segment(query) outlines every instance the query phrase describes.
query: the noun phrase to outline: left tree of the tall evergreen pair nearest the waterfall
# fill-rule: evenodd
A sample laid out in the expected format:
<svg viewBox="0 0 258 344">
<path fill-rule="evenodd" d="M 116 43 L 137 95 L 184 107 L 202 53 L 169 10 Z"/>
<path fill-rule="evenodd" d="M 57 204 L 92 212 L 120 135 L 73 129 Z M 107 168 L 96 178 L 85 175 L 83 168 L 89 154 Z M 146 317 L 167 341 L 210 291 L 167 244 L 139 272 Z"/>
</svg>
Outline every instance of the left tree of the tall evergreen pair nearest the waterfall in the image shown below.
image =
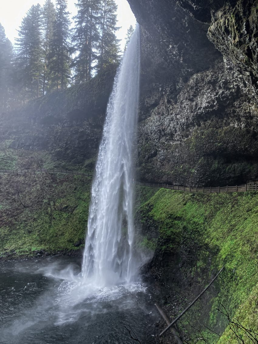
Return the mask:
<svg viewBox="0 0 258 344">
<path fill-rule="evenodd" d="M 92 77 L 93 64 L 99 42 L 98 24 L 100 20 L 101 0 L 78 0 L 73 36 L 75 81 L 85 82 Z"/>
</svg>

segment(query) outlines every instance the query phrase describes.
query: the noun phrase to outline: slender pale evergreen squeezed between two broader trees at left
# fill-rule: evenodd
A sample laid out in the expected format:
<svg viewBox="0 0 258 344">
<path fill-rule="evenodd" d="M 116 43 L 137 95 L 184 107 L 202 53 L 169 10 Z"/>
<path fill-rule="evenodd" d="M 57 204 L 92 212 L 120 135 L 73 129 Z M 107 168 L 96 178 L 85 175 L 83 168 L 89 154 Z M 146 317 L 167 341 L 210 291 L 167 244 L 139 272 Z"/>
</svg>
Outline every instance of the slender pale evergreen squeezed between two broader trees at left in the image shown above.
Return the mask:
<svg viewBox="0 0 258 344">
<path fill-rule="evenodd" d="M 46 0 L 43 6 L 43 50 L 44 50 L 44 72 L 43 72 L 43 90 L 42 94 L 51 87 L 51 71 L 50 56 L 51 56 L 51 42 L 54 36 L 54 25 L 55 25 L 55 6 L 51 0 Z"/>
</svg>

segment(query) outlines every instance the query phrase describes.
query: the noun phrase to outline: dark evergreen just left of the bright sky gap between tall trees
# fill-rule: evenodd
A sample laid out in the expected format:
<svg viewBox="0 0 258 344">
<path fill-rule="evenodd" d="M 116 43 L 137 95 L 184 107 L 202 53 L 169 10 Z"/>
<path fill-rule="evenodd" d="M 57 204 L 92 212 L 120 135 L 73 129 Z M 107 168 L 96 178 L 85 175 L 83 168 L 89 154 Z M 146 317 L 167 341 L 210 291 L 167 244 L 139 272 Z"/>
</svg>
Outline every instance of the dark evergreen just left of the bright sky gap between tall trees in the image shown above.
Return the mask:
<svg viewBox="0 0 258 344">
<path fill-rule="evenodd" d="M 70 32 L 69 12 L 67 0 L 56 0 L 56 20 L 53 38 L 50 42 L 49 63 L 47 68 L 51 72 L 52 84 L 57 89 L 64 89 L 70 80 Z"/>
</svg>

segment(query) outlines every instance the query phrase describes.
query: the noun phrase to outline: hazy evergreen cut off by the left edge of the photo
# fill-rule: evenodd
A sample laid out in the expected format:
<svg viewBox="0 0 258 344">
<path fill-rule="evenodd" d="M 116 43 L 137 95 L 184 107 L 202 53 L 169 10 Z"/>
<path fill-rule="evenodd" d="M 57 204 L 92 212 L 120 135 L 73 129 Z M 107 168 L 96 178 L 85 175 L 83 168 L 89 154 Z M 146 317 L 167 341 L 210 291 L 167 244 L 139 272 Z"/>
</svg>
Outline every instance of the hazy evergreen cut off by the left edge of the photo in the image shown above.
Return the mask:
<svg viewBox="0 0 258 344">
<path fill-rule="evenodd" d="M 7 39 L 0 23 L 0 111 L 6 110 L 11 97 L 12 76 L 12 44 Z"/>
</svg>

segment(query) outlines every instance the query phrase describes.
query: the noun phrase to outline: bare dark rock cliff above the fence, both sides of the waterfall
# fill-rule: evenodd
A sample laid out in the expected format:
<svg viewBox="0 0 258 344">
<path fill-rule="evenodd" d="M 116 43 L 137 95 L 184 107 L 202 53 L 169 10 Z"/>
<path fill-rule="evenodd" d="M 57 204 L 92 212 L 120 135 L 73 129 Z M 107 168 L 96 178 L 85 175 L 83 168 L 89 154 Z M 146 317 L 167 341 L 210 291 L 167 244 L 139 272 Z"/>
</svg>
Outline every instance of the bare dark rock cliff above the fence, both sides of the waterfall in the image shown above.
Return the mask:
<svg viewBox="0 0 258 344">
<path fill-rule="evenodd" d="M 128 1 L 141 25 L 137 178 L 255 182 L 257 1 Z M 4 116 L 1 141 L 84 164 L 96 156 L 114 76 L 115 66 Z"/>
</svg>

